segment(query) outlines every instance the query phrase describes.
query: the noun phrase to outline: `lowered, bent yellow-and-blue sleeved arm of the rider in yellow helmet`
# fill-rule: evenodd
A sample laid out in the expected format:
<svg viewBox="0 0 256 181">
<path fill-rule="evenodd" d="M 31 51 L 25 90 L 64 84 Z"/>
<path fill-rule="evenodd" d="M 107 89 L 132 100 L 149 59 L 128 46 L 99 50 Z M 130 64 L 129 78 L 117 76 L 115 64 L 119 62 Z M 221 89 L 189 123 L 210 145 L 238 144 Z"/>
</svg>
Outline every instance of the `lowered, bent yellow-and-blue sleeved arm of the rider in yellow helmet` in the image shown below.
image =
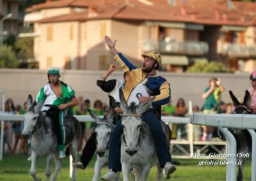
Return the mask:
<svg viewBox="0 0 256 181">
<path fill-rule="evenodd" d="M 163 84 L 160 87 L 160 94 L 155 96 L 153 105 L 154 106 L 161 106 L 165 105 L 170 101 L 171 98 L 171 90 L 170 90 L 170 84 L 168 82 L 163 82 Z"/>
</svg>

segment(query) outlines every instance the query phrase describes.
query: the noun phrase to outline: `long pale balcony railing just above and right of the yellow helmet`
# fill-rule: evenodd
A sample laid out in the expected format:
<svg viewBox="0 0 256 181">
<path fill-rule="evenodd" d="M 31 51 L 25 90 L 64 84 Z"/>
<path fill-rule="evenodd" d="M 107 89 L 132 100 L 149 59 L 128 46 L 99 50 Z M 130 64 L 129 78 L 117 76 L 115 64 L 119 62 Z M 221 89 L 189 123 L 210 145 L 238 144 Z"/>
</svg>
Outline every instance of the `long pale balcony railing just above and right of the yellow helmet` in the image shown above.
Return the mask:
<svg viewBox="0 0 256 181">
<path fill-rule="evenodd" d="M 209 45 L 203 41 L 143 41 L 143 51 L 158 50 L 163 53 L 175 53 L 185 55 L 204 55 L 209 51 Z"/>
</svg>

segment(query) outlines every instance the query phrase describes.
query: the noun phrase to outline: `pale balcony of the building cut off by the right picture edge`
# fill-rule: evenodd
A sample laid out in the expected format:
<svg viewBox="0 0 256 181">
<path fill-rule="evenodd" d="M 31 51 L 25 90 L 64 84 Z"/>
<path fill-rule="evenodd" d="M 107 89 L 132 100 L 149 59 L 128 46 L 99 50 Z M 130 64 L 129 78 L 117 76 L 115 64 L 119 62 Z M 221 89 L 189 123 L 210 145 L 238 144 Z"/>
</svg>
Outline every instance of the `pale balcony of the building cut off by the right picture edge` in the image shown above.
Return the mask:
<svg viewBox="0 0 256 181">
<path fill-rule="evenodd" d="M 256 46 L 225 43 L 221 45 L 221 55 L 228 57 L 256 57 Z"/>
</svg>

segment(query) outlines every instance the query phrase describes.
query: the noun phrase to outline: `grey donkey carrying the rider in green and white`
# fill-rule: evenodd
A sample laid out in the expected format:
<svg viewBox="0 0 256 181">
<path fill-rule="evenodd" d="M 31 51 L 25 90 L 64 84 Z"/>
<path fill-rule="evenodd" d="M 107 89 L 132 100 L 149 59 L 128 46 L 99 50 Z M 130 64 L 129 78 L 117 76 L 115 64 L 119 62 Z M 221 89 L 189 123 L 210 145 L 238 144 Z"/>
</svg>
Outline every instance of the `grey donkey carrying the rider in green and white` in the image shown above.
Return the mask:
<svg viewBox="0 0 256 181">
<path fill-rule="evenodd" d="M 54 157 L 56 168 L 52 180 L 56 180 L 56 177 L 61 168 L 61 159 L 58 157 L 57 138 L 56 134 L 52 130 L 52 120 L 49 117 L 45 117 L 45 112 L 40 112 L 44 105 L 45 99 L 37 105 L 33 103 L 33 98 L 29 94 L 28 96 L 28 112 L 24 114 L 24 129 L 22 131 L 22 138 L 28 140 L 31 138 L 31 168 L 30 174 L 35 181 L 41 180 L 36 176 L 36 160 L 38 156 L 47 157 L 47 165 L 45 169 L 45 175 L 47 180 L 50 180 L 51 175 L 51 161 Z M 53 120 L 56 121 L 56 120 Z M 78 120 L 70 115 L 66 115 L 64 118 L 65 125 L 65 146 L 70 146 L 70 154 L 73 157 L 73 161 L 77 159 L 77 144 L 79 135 L 81 134 L 81 127 Z M 76 173 L 73 169 L 71 180 L 76 180 Z"/>
</svg>

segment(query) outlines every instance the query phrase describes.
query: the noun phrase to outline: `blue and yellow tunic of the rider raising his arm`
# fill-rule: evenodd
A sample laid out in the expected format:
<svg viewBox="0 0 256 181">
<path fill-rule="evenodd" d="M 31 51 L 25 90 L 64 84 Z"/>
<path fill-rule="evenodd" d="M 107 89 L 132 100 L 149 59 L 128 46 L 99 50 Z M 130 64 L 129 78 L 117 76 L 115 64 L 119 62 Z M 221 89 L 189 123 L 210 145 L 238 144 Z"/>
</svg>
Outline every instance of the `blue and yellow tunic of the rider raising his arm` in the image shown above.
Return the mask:
<svg viewBox="0 0 256 181">
<path fill-rule="evenodd" d="M 131 62 L 129 62 L 121 53 L 115 55 L 115 60 L 120 64 L 120 66 L 122 66 L 124 71 L 129 72 L 129 78 L 124 87 L 125 99 L 128 100 L 136 85 L 143 82 L 145 78 L 147 78 L 147 81 L 144 83 L 145 89 L 147 89 L 149 96 L 156 97 L 152 106 L 160 119 L 161 106 L 168 103 L 171 98 L 170 83 L 168 83 L 166 79 L 160 75 L 146 77 L 147 74 L 143 73 L 141 68 L 131 64 Z"/>
</svg>

